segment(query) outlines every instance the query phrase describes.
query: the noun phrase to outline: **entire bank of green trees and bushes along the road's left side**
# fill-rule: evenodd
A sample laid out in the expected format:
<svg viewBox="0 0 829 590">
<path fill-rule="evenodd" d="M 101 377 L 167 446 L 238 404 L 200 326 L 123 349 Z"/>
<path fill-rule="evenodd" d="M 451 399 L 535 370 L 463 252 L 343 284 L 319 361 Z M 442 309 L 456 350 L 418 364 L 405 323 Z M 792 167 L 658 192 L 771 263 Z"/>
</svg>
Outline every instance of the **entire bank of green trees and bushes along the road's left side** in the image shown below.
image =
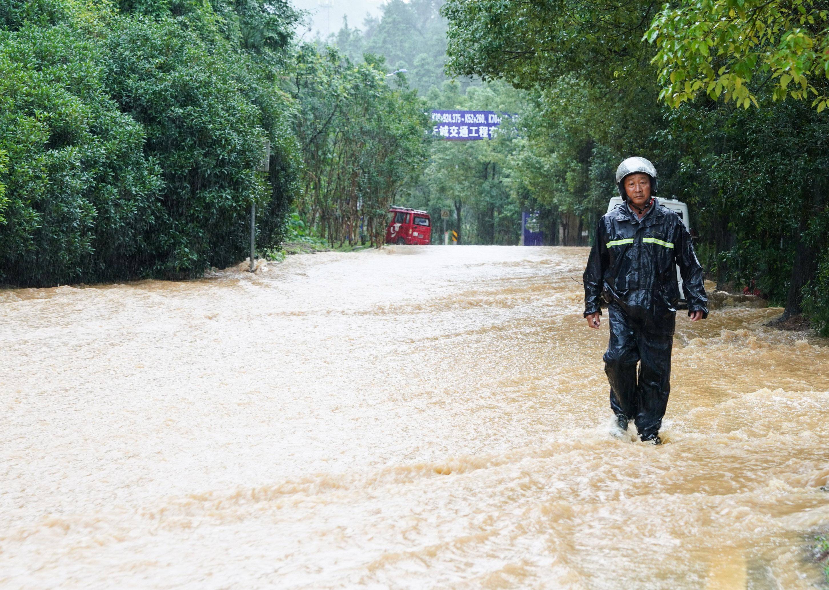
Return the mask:
<svg viewBox="0 0 829 590">
<path fill-rule="evenodd" d="M 296 42 L 299 18 L 284 0 L 0 0 L 0 281 L 199 276 L 245 258 L 251 206 L 278 248 L 308 195 L 327 237 L 356 215 L 376 243 L 424 164 L 424 107 L 382 60 Z"/>
</svg>

